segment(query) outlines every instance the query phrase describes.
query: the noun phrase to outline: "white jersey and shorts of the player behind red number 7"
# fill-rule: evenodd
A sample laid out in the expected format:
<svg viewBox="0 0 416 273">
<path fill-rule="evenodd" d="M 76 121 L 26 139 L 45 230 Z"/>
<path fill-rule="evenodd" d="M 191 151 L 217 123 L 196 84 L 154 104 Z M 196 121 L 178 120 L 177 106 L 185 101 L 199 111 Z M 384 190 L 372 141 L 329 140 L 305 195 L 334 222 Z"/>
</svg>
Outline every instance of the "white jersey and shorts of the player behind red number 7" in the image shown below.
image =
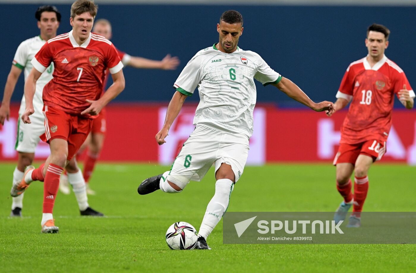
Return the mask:
<svg viewBox="0 0 416 273">
<path fill-rule="evenodd" d="M 13 65 L 20 69 L 24 69 L 25 81 L 33 67 L 30 61 L 32 61 L 33 57 L 35 57 L 36 53 L 43 45 L 45 45 L 45 43 L 46 41 L 42 40 L 40 36 L 36 36 L 23 41 L 19 47 L 17 47 Z M 19 121 L 17 122 L 16 151 L 34 153 L 40 140 L 39 136 L 45 133 L 45 117 L 42 114 L 42 92 L 43 87 L 45 87 L 45 85 L 53 78 L 53 70 L 54 66 L 53 63 L 51 63 L 36 81 L 36 91 L 35 96 L 33 97 L 33 109 L 35 112 L 30 116 L 30 124 L 25 124 L 20 120 L 26 107 L 25 96 L 23 95 L 22 97 L 19 109 Z"/>
</svg>

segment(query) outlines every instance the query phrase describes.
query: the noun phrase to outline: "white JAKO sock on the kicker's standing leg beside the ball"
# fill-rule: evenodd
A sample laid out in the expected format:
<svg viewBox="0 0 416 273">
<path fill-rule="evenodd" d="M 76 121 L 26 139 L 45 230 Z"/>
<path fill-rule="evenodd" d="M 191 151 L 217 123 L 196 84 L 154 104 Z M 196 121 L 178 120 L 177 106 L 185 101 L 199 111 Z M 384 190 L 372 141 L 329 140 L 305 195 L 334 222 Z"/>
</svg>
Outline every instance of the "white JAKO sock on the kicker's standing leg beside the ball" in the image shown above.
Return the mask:
<svg viewBox="0 0 416 273">
<path fill-rule="evenodd" d="M 220 222 L 221 217 L 223 217 L 225 211 L 227 211 L 233 188 L 234 183 L 230 179 L 217 180 L 215 183 L 215 194 L 208 203 L 201 227 L 199 228 L 199 236 L 206 239 Z"/>
</svg>

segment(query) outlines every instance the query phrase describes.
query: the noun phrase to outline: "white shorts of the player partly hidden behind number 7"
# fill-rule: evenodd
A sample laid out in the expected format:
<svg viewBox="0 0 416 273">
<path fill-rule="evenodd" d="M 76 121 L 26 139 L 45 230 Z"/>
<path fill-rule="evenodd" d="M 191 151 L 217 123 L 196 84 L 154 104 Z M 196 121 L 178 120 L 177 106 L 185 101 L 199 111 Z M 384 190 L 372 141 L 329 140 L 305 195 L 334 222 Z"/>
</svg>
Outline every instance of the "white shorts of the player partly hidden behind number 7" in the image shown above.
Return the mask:
<svg viewBox="0 0 416 273">
<path fill-rule="evenodd" d="M 22 114 L 19 111 L 15 150 L 22 153 L 34 153 L 40 141 L 39 137 L 45 133 L 45 117 L 30 115 L 31 123 L 24 123 L 20 118 Z"/>
</svg>

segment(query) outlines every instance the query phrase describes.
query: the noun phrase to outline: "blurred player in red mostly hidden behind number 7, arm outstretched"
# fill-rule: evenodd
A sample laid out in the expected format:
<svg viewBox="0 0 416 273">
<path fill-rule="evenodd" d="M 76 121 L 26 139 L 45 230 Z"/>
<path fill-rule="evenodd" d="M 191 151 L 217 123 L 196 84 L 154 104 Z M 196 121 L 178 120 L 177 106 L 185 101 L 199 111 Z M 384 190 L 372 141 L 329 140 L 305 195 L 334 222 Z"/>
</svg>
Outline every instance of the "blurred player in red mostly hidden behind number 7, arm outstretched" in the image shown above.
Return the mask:
<svg viewBox="0 0 416 273">
<path fill-rule="evenodd" d="M 112 31 L 111 23 L 106 19 L 99 19 L 94 22 L 94 27 L 92 29 L 93 33 L 97 33 L 106 37 L 106 39 L 111 40 Z M 116 48 L 119 53 L 121 62 L 124 66 L 131 66 L 134 68 L 146 68 L 146 69 L 162 69 L 162 70 L 174 70 L 178 67 L 180 61 L 178 57 L 171 57 L 170 54 L 166 55 L 161 61 L 149 60 L 142 57 L 135 57 L 126 54 Z M 108 79 L 108 73 L 106 74 L 106 81 L 104 88 L 106 87 L 106 82 Z M 84 159 L 84 169 L 82 175 L 87 187 L 88 194 L 95 194 L 89 186 L 89 178 L 91 177 L 94 166 L 99 157 L 100 151 L 104 144 L 104 137 L 106 132 L 106 111 L 105 108 L 101 110 L 99 117 L 94 119 L 92 122 L 91 133 L 88 135 L 87 140 L 79 149 L 78 155 L 82 154 L 84 149 L 87 149 L 87 153 Z M 68 179 L 66 174 L 62 174 L 61 181 L 59 183 L 59 189 L 64 194 L 69 194 Z"/>
</svg>

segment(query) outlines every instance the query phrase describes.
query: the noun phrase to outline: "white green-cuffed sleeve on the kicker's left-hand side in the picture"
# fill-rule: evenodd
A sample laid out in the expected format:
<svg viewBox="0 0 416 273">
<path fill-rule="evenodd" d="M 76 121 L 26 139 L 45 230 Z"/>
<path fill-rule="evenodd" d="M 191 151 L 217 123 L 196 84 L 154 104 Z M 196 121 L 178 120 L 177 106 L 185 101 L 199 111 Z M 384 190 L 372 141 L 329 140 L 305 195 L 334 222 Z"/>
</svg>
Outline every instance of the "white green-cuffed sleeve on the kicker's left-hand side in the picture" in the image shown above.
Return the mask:
<svg viewBox="0 0 416 273">
<path fill-rule="evenodd" d="M 197 60 L 198 57 L 194 56 L 183 68 L 178 79 L 176 79 L 173 87 L 182 94 L 192 96 L 198 84 L 201 82 L 201 61 Z"/>
</svg>

